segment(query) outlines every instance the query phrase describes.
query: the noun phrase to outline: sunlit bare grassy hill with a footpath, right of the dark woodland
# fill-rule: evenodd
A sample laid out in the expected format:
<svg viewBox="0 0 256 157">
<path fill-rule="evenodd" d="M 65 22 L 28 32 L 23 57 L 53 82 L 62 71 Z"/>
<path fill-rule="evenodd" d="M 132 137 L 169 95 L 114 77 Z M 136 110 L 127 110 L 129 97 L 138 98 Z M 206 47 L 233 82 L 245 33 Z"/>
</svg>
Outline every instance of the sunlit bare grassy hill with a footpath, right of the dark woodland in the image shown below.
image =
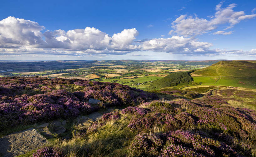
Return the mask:
<svg viewBox="0 0 256 157">
<path fill-rule="evenodd" d="M 255 61 L 220 61 L 191 73 L 194 83 L 256 88 Z"/>
</svg>

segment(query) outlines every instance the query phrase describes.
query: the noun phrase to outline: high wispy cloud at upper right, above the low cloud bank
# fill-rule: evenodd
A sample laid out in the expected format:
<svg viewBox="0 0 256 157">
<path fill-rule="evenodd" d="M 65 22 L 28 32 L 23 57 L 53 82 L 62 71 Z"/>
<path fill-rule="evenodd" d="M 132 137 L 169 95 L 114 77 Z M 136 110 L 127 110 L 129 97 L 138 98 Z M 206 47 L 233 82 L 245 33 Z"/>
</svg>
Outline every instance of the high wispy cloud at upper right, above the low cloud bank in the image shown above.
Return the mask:
<svg viewBox="0 0 256 157">
<path fill-rule="evenodd" d="M 200 35 L 215 30 L 218 25 L 228 24 L 226 29 L 232 28 L 242 20 L 252 19 L 256 14 L 245 15 L 244 11 L 235 12 L 233 10 L 236 4 L 230 4 L 228 7 L 222 8 L 223 2 L 216 5 L 214 16 L 210 19 L 198 18 L 195 16 L 181 15 L 172 22 L 174 32 L 185 37 L 192 35 Z M 232 33 L 232 32 L 231 32 Z"/>
</svg>

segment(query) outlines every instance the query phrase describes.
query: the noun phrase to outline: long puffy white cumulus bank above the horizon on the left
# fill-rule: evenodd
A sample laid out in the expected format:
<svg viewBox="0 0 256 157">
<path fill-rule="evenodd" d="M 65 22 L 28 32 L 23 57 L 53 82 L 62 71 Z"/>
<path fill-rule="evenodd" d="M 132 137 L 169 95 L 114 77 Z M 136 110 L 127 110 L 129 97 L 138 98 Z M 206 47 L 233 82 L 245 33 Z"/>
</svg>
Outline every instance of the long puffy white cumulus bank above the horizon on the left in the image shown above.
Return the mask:
<svg viewBox="0 0 256 157">
<path fill-rule="evenodd" d="M 67 32 L 47 30 L 42 33 L 44 29 L 44 26 L 30 20 L 11 16 L 3 19 L 0 21 L 0 48 L 8 48 L 12 52 L 15 52 L 13 48 L 19 48 L 20 52 L 30 52 L 31 48 L 38 48 L 37 50 L 48 48 L 54 53 L 57 52 L 55 49 L 61 49 L 58 52 L 76 51 L 81 53 L 83 51 L 83 53 L 103 54 L 125 54 L 140 49 L 140 45 L 133 44 L 133 40 L 138 35 L 135 28 L 125 29 L 113 36 L 93 27 L 68 30 Z"/>
</svg>

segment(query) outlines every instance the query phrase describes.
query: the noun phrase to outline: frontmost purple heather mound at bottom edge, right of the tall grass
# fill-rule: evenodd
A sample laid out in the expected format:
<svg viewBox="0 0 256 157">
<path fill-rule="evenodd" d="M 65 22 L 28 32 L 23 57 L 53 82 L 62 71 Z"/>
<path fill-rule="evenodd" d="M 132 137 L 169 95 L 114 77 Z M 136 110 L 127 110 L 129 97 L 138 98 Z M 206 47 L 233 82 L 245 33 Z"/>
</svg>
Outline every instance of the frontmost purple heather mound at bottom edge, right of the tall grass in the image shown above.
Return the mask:
<svg viewBox="0 0 256 157">
<path fill-rule="evenodd" d="M 199 133 L 183 130 L 161 135 L 142 132 L 134 137 L 130 149 L 134 156 L 242 156 L 222 142 L 203 137 Z"/>
</svg>

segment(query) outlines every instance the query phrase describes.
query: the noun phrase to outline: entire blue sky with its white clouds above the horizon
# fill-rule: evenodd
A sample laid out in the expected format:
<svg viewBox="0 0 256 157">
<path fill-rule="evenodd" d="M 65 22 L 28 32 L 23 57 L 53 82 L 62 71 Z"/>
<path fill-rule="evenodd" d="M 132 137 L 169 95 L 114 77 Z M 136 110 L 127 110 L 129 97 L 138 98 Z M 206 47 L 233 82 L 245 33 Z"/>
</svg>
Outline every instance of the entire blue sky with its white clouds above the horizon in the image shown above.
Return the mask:
<svg viewBox="0 0 256 157">
<path fill-rule="evenodd" d="M 256 1 L 4 1 L 0 59 L 256 59 Z"/>
</svg>

